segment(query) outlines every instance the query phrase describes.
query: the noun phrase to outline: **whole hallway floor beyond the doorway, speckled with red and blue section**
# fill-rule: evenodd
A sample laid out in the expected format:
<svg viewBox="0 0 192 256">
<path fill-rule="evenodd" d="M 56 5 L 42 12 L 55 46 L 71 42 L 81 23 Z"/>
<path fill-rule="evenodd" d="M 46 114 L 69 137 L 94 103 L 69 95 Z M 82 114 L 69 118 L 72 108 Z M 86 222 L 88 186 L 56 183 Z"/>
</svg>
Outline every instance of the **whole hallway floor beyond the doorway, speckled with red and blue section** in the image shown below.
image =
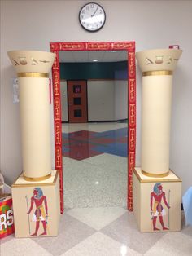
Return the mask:
<svg viewBox="0 0 192 256">
<path fill-rule="evenodd" d="M 127 124 L 63 125 L 65 209 L 127 205 Z"/>
</svg>

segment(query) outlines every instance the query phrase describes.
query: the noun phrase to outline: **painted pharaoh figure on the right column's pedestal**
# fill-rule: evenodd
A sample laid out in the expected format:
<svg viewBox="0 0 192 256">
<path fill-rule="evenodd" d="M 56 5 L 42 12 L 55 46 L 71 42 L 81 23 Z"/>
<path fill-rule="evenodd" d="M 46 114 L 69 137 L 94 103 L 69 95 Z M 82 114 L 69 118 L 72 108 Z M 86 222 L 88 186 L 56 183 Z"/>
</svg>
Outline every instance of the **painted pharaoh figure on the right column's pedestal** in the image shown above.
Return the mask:
<svg viewBox="0 0 192 256">
<path fill-rule="evenodd" d="M 170 192 L 170 191 L 169 191 Z M 169 195 L 168 195 L 169 198 Z M 166 211 L 162 205 L 162 200 L 164 201 L 164 205 L 169 209 L 169 202 L 166 200 L 165 192 L 163 191 L 163 187 L 161 183 L 155 183 L 153 192 L 151 192 L 151 219 L 153 223 L 153 230 L 157 231 L 159 228 L 156 227 L 157 217 L 159 217 L 159 222 L 163 228 L 163 230 L 168 230 L 169 227 L 164 226 L 164 216 L 166 215 Z M 169 201 L 169 199 L 168 199 Z M 169 211 L 168 211 L 169 214 Z M 169 217 L 169 216 L 168 216 Z M 169 223 L 168 223 L 169 226 Z"/>
</svg>

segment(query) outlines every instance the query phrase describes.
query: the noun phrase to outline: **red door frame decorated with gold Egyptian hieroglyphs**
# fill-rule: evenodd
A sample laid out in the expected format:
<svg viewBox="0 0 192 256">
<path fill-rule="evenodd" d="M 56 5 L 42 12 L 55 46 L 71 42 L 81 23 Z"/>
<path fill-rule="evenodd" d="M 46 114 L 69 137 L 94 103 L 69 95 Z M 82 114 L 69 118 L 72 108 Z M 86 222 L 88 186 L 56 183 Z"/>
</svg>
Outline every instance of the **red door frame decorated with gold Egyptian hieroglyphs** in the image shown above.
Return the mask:
<svg viewBox="0 0 192 256">
<path fill-rule="evenodd" d="M 50 51 L 56 54 L 52 67 L 54 91 L 55 125 L 55 169 L 59 170 L 60 206 L 63 213 L 63 157 L 62 157 L 62 122 L 60 99 L 59 51 L 127 51 L 128 52 L 128 210 L 133 210 L 133 168 L 135 166 L 136 146 L 136 68 L 135 42 L 50 42 Z"/>
</svg>

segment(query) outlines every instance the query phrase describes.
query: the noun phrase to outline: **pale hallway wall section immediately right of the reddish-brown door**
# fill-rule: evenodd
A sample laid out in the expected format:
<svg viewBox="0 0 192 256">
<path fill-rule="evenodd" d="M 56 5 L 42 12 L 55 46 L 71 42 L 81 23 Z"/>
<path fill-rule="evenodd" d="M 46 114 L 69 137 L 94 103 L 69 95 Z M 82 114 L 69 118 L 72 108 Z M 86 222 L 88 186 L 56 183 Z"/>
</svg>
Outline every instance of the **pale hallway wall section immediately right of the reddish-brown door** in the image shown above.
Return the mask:
<svg viewBox="0 0 192 256">
<path fill-rule="evenodd" d="M 88 121 L 114 120 L 114 81 L 88 80 Z"/>
</svg>

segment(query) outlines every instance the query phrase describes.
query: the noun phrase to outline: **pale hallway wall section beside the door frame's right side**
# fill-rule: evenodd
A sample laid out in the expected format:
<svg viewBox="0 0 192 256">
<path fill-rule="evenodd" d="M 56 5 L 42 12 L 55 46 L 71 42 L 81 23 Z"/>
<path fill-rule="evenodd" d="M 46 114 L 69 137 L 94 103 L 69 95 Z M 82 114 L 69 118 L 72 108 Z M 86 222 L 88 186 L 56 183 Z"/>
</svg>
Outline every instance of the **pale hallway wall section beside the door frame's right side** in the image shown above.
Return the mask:
<svg viewBox="0 0 192 256">
<path fill-rule="evenodd" d="M 115 80 L 115 120 L 128 118 L 128 81 Z"/>
</svg>

